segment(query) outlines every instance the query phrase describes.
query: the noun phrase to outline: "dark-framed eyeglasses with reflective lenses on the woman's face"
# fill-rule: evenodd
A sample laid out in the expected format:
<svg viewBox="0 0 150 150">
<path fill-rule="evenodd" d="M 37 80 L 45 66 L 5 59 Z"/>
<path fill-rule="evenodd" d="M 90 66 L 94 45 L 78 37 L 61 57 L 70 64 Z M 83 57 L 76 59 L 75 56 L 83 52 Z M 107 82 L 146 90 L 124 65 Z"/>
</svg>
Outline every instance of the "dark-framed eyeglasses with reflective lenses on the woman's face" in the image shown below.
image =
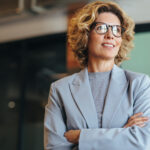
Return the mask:
<svg viewBox="0 0 150 150">
<path fill-rule="evenodd" d="M 105 34 L 108 32 L 108 29 L 111 28 L 112 34 L 115 37 L 121 37 L 122 34 L 125 32 L 125 28 L 120 25 L 108 25 L 103 22 L 94 22 L 92 27 L 94 26 L 96 33 L 98 34 Z"/>
</svg>

